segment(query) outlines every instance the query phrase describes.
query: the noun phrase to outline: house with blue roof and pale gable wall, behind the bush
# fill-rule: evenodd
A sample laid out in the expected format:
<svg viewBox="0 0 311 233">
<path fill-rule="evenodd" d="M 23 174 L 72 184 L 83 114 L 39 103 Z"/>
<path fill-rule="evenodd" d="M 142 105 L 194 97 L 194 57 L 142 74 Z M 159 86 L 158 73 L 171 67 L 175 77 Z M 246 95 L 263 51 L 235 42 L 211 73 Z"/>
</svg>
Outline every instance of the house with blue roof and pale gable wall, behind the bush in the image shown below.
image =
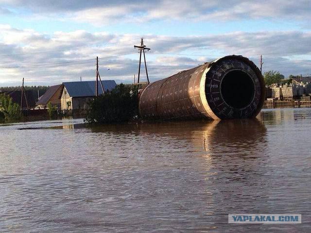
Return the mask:
<svg viewBox="0 0 311 233">
<path fill-rule="evenodd" d="M 63 83 L 64 89 L 61 96 L 61 109 L 87 109 L 88 102 L 95 97 L 95 83 L 96 81 Z M 104 80 L 102 84 L 104 91 L 110 91 L 117 85 L 114 80 Z M 98 82 L 98 94 L 103 94 L 100 81 Z"/>
</svg>

